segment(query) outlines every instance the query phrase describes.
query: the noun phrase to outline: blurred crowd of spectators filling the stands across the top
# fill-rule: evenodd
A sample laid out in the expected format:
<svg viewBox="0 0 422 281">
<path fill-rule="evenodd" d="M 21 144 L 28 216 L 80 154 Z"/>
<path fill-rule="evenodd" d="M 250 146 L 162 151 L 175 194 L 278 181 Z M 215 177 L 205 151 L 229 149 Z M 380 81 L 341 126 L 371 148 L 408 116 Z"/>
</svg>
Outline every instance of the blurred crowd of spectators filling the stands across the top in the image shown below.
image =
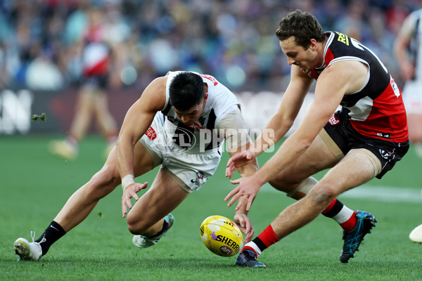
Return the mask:
<svg viewBox="0 0 422 281">
<path fill-rule="evenodd" d="M 113 87 L 141 91 L 169 70 L 193 70 L 234 91 L 284 91 L 290 67 L 275 31 L 295 8 L 324 30 L 362 41 L 402 86 L 392 45 L 404 18 L 421 7 L 421 0 L 2 0 L 0 89 L 77 85 L 79 45 L 89 13 L 99 11 L 119 58 Z"/>
</svg>

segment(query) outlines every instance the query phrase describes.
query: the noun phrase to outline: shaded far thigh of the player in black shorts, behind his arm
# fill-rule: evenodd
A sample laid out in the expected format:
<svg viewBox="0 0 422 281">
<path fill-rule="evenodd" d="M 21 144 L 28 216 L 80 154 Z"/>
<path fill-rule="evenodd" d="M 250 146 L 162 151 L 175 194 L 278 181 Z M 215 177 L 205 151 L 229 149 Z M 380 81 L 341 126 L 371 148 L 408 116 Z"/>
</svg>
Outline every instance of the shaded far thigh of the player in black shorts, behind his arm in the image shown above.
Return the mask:
<svg viewBox="0 0 422 281">
<path fill-rule="evenodd" d="M 286 189 L 284 191 L 290 191 L 291 188 L 295 188 L 295 185 L 298 185 L 305 178 L 324 169 L 331 168 L 338 161 L 339 159 L 335 157 L 332 148 L 328 148 L 326 142 L 318 135 L 309 148 L 295 162 L 271 180 L 271 185 L 276 188 Z"/>
</svg>

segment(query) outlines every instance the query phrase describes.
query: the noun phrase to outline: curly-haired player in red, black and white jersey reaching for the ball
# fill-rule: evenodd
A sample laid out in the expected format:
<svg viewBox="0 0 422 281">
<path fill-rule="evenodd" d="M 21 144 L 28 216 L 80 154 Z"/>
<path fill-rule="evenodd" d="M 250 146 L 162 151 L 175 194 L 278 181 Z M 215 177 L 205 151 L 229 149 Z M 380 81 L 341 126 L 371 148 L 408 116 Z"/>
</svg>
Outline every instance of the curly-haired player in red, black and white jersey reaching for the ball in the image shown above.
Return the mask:
<svg viewBox="0 0 422 281">
<path fill-rule="evenodd" d="M 239 184 L 225 200 L 231 206 L 246 200 L 249 209 L 264 183 L 283 191 L 310 190 L 286 208 L 239 254 L 238 266 L 265 267 L 257 256 L 271 244 L 314 220 L 318 214 L 338 213 L 333 200 L 372 178 L 381 178 L 409 149 L 402 95 L 381 60 L 366 46 L 339 32 L 324 32 L 309 13 L 296 10 L 280 22 L 279 44 L 291 65 L 290 84 L 281 107 L 266 129 L 279 141 L 293 124 L 312 81 L 314 102 L 298 129 L 255 174 Z M 341 110 L 336 111 L 341 105 Z M 229 159 L 226 175 L 260 155 L 271 143 L 257 138 L 250 150 Z M 320 181 L 312 175 L 331 168 Z M 335 215 L 338 216 L 338 215 Z M 364 236 L 375 226 L 373 214 L 354 212 L 354 228 L 343 233 L 340 261 L 354 256 Z"/>
</svg>

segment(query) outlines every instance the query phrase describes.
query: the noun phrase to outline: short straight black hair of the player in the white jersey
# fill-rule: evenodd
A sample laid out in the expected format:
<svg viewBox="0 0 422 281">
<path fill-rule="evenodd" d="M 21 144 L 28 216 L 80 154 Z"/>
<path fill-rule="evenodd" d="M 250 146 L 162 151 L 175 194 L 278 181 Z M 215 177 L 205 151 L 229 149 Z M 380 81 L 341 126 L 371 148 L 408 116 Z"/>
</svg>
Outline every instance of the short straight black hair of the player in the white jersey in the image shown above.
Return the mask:
<svg viewBox="0 0 422 281">
<path fill-rule="evenodd" d="M 203 79 L 193 72 L 180 72 L 169 87 L 170 104 L 177 110 L 188 110 L 198 105 L 205 96 Z"/>
</svg>

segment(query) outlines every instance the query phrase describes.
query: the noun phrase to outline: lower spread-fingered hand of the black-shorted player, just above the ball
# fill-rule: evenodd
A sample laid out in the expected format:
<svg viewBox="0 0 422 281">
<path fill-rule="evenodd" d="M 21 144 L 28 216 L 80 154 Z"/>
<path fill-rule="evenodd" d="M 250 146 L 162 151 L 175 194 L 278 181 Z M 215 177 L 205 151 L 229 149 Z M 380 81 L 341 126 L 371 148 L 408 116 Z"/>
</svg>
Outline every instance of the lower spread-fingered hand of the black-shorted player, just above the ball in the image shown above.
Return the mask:
<svg viewBox="0 0 422 281">
<path fill-rule="evenodd" d="M 241 209 L 241 207 L 245 203 L 246 203 L 246 211 L 250 210 L 250 206 L 252 206 L 252 202 L 257 196 L 257 193 L 260 191 L 260 188 L 262 186 L 262 183 L 257 181 L 257 177 L 255 175 L 256 174 L 252 176 L 238 178 L 235 181 L 230 181 L 230 183 L 233 183 L 233 184 L 238 184 L 238 183 L 240 184 L 237 186 L 237 188 L 235 188 L 234 190 L 231 190 L 231 192 L 224 198 L 224 201 L 228 201 L 231 197 L 233 197 L 231 198 L 230 202 L 227 204 L 227 207 L 231 207 L 231 205 L 234 204 L 236 200 L 242 197 L 242 199 L 239 200 L 236 206 L 236 211 Z M 245 202 L 245 200 L 248 200 L 248 201 Z"/>
</svg>

